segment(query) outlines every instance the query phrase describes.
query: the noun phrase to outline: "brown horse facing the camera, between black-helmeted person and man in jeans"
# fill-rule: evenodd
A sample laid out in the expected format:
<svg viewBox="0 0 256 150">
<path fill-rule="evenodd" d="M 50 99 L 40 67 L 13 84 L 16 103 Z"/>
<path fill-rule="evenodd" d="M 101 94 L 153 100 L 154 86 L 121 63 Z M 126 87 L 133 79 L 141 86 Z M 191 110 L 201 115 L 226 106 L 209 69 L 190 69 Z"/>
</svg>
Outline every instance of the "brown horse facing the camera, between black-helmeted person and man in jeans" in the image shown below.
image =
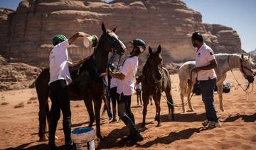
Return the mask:
<svg viewBox="0 0 256 150">
<path fill-rule="evenodd" d="M 142 71 L 142 100 L 143 100 L 143 120 L 142 127 L 145 126 L 146 120 L 146 108 L 149 103 L 149 97 L 152 95 L 156 105 L 156 117 L 158 122 L 157 126 L 160 126 L 160 100 L 161 93 L 164 91 L 166 94 L 166 100 L 169 101 L 168 108 L 169 114 L 174 120 L 174 104 L 171 96 L 171 78 L 169 71 L 162 67 L 161 46 L 157 48 L 155 52 L 149 47 L 149 57 L 146 59 L 146 64 Z"/>
</svg>

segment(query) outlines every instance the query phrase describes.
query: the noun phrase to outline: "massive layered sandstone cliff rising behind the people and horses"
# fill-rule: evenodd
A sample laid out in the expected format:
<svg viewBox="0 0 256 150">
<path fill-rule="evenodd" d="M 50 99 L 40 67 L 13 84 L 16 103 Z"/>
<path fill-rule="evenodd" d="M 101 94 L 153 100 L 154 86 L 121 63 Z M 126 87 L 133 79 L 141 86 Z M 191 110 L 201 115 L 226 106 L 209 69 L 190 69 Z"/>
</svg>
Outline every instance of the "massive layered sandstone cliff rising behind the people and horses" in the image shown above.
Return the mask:
<svg viewBox="0 0 256 150">
<path fill-rule="evenodd" d="M 194 59 L 191 33 L 195 30 L 203 33 L 215 53 L 241 50 L 233 28 L 202 23 L 201 13 L 180 0 L 23 0 L 16 11 L 0 9 L 0 54 L 16 62 L 47 66 L 53 35 L 70 37 L 83 31 L 100 36 L 102 22 L 107 28 L 118 25 L 117 35 L 124 42 L 139 37 L 148 46 L 161 45 L 166 65 Z M 69 50 L 71 59 L 92 54 L 82 40 Z M 142 61 L 145 58 L 146 54 Z"/>
</svg>

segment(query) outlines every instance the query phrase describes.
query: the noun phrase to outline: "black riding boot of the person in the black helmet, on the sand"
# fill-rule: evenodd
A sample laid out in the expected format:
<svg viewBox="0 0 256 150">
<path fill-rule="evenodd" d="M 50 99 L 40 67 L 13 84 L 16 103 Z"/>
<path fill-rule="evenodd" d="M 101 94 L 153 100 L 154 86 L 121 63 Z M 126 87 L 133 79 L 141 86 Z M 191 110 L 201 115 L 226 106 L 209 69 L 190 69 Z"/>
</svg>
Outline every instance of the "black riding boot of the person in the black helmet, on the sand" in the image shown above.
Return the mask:
<svg viewBox="0 0 256 150">
<path fill-rule="evenodd" d="M 121 120 L 130 129 L 130 134 L 131 134 L 131 139 L 132 139 L 130 142 L 136 143 L 136 142 L 140 142 L 143 140 L 142 135 L 139 134 L 139 132 L 136 129 L 135 125 L 133 124 L 132 120 L 127 115 L 122 116 Z"/>
</svg>

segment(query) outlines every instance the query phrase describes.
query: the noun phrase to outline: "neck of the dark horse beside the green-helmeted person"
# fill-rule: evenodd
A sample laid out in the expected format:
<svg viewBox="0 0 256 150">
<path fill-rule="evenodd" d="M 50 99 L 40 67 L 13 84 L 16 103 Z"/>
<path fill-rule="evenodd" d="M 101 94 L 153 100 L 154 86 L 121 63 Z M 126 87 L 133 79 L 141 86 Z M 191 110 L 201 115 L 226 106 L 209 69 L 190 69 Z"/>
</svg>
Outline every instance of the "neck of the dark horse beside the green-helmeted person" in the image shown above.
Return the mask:
<svg viewBox="0 0 256 150">
<path fill-rule="evenodd" d="M 95 62 L 97 69 L 99 69 L 100 72 L 105 72 L 107 67 L 107 61 L 108 61 L 108 52 L 106 52 L 100 45 L 95 48 L 95 51 L 93 52 L 93 56 L 95 57 Z"/>
</svg>

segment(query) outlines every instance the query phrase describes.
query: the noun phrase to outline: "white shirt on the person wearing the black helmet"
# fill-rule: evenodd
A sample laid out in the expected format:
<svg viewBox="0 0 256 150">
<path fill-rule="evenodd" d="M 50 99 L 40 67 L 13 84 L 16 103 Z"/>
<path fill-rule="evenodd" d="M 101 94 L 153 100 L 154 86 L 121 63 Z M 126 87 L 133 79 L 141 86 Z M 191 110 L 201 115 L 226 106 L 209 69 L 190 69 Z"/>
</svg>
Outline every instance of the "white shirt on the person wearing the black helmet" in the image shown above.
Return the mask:
<svg viewBox="0 0 256 150">
<path fill-rule="evenodd" d="M 139 59 L 137 56 L 125 60 L 120 72 L 124 74 L 123 80 L 117 80 L 117 93 L 124 93 L 124 96 L 131 96 L 134 92 L 134 79 L 137 72 Z"/>
</svg>

